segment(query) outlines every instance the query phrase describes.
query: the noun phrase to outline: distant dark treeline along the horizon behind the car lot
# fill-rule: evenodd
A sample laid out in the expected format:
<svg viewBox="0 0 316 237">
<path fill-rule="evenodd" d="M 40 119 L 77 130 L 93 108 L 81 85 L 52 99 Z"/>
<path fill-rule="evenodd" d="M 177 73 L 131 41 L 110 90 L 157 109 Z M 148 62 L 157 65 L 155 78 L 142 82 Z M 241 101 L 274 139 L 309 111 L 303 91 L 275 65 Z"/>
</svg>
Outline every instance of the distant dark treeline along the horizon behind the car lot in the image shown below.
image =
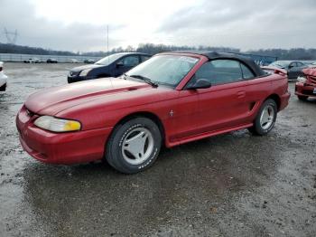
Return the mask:
<svg viewBox="0 0 316 237">
<path fill-rule="evenodd" d="M 237 48 L 230 47 L 210 47 L 210 46 L 175 46 L 153 43 L 140 43 L 137 47 L 127 46 L 126 48 L 117 47 L 110 52 L 67 52 L 67 51 L 53 51 L 36 47 L 13 45 L 7 43 L 0 43 L 0 53 L 21 53 L 21 54 L 39 54 L 39 55 L 65 55 L 65 56 L 96 56 L 103 57 L 107 54 L 116 52 L 144 52 L 155 54 L 158 52 L 170 51 L 187 51 L 187 50 L 202 50 L 215 52 L 241 52 Z M 267 49 L 247 51 L 244 53 L 258 54 L 263 56 L 274 56 L 279 60 L 316 60 L 316 49 L 295 48 L 290 50 L 283 49 Z"/>
</svg>

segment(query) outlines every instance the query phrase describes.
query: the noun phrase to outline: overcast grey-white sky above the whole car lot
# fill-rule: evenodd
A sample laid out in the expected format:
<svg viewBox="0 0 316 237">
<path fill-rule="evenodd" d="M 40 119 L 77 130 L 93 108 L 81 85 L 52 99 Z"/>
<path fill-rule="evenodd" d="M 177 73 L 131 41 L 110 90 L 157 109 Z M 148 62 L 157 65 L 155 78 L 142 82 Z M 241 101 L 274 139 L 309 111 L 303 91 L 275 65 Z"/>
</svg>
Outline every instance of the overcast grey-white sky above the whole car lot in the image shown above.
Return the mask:
<svg viewBox="0 0 316 237">
<path fill-rule="evenodd" d="M 316 48 L 315 0 L 0 0 L 17 44 L 74 52 L 138 43 Z"/>
</svg>

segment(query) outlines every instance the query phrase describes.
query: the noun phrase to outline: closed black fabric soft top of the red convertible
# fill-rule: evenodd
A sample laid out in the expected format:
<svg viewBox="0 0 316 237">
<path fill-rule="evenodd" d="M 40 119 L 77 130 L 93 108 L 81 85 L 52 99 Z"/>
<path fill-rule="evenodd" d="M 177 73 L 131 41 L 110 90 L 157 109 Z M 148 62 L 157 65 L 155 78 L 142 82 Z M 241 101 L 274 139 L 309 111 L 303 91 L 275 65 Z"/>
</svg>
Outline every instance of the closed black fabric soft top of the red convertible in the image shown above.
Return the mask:
<svg viewBox="0 0 316 237">
<path fill-rule="evenodd" d="M 179 53 L 192 53 L 199 54 L 209 58 L 209 60 L 218 60 L 218 59 L 232 59 L 239 62 L 243 62 L 248 66 L 251 71 L 253 71 L 256 77 L 265 76 L 266 72 L 263 71 L 252 59 L 238 55 L 236 53 L 228 52 L 208 52 L 208 51 L 174 51 Z"/>
</svg>

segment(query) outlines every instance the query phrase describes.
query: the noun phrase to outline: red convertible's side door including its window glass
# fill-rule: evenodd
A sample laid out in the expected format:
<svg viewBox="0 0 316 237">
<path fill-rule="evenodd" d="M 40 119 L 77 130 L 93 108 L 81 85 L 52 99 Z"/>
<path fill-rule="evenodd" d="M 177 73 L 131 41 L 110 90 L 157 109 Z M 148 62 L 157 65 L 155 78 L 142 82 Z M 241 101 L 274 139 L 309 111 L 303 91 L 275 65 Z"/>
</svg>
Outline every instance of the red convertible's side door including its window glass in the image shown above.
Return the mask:
<svg viewBox="0 0 316 237">
<path fill-rule="evenodd" d="M 251 74 L 250 77 L 253 77 Z M 249 77 L 249 76 L 248 76 Z M 248 81 L 240 62 L 214 60 L 206 62 L 195 73 L 195 79 L 207 79 L 209 89 L 199 92 L 198 133 L 230 128 L 246 123 L 249 101 L 246 100 Z"/>
</svg>

